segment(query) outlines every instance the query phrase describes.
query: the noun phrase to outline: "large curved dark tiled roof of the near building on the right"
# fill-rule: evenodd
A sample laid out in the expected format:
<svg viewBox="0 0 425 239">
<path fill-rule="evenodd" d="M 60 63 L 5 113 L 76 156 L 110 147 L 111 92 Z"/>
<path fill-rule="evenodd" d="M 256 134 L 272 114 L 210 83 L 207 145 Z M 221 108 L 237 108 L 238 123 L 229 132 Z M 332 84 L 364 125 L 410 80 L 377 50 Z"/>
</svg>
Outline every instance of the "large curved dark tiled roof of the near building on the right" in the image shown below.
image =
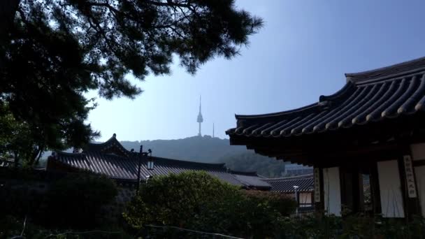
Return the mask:
<svg viewBox="0 0 425 239">
<path fill-rule="evenodd" d="M 289 137 L 334 131 L 425 111 L 425 58 L 346 74 L 339 92 L 303 108 L 265 115 L 236 115 L 229 136 Z"/>
</svg>

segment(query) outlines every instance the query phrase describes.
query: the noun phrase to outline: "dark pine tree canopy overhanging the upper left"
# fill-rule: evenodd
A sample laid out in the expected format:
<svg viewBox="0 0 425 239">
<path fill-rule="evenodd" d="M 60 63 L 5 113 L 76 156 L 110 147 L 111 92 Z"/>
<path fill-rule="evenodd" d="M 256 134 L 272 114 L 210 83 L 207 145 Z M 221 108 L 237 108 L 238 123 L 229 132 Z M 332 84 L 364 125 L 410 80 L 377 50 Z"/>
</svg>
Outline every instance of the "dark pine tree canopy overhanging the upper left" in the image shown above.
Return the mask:
<svg viewBox="0 0 425 239">
<path fill-rule="evenodd" d="M 195 73 L 238 55 L 261 25 L 233 0 L 3 0 L 0 104 L 38 147 L 79 147 L 99 135 L 86 92 L 134 98 L 127 75 L 171 73 L 173 56 Z"/>
</svg>

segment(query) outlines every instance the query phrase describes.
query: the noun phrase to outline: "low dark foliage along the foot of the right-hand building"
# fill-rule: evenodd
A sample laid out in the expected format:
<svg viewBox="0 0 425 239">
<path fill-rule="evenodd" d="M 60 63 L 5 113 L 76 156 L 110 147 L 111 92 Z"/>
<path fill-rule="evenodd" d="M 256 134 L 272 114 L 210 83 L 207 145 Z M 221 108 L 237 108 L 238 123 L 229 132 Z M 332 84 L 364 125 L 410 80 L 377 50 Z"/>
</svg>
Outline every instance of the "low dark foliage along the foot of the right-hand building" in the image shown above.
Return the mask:
<svg viewBox="0 0 425 239">
<path fill-rule="evenodd" d="M 285 218 L 280 222 L 279 238 L 424 238 L 425 220 L 350 215 L 324 217 L 307 215 Z"/>
</svg>

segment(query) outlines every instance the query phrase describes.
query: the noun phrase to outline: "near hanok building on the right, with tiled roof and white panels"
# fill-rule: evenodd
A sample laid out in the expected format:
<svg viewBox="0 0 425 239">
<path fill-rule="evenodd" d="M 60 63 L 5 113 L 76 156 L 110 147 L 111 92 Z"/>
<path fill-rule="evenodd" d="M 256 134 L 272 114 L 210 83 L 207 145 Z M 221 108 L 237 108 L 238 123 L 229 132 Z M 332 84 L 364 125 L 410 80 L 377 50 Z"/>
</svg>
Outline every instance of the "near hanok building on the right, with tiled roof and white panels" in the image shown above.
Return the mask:
<svg viewBox="0 0 425 239">
<path fill-rule="evenodd" d="M 327 213 L 363 211 L 370 178 L 374 213 L 425 216 L 425 57 L 345 76 L 309 106 L 236 115 L 231 144 L 313 166 L 315 205 Z"/>
</svg>

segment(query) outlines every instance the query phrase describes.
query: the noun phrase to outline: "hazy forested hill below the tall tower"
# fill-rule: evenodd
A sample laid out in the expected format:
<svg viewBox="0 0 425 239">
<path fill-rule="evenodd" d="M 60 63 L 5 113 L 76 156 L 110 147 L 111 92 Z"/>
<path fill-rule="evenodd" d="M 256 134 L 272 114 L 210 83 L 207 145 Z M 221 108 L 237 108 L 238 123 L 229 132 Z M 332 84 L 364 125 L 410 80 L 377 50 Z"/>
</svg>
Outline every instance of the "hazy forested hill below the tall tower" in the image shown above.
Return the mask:
<svg viewBox="0 0 425 239">
<path fill-rule="evenodd" d="M 151 149 L 152 155 L 205 163 L 224 163 L 235 171 L 257 171 L 275 178 L 284 173 L 284 162 L 255 154 L 245 146 L 230 145 L 228 139 L 193 136 L 178 140 L 120 141 L 127 150 Z"/>
</svg>

